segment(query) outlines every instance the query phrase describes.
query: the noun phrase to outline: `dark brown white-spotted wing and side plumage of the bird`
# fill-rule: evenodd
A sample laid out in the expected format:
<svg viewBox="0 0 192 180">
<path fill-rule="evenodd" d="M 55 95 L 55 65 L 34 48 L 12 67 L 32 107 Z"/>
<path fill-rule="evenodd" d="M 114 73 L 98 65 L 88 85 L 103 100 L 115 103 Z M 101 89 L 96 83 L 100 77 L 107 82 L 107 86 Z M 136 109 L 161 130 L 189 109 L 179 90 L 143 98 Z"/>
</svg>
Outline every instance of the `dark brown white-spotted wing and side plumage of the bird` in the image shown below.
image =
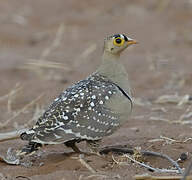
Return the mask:
<svg viewBox="0 0 192 180">
<path fill-rule="evenodd" d="M 56 144 L 72 139 L 98 140 L 119 126 L 118 112 L 107 102 L 125 96 L 104 77 L 91 76 L 64 91 L 29 130 L 31 141 Z M 28 134 L 30 134 L 28 133 Z"/>
</svg>

